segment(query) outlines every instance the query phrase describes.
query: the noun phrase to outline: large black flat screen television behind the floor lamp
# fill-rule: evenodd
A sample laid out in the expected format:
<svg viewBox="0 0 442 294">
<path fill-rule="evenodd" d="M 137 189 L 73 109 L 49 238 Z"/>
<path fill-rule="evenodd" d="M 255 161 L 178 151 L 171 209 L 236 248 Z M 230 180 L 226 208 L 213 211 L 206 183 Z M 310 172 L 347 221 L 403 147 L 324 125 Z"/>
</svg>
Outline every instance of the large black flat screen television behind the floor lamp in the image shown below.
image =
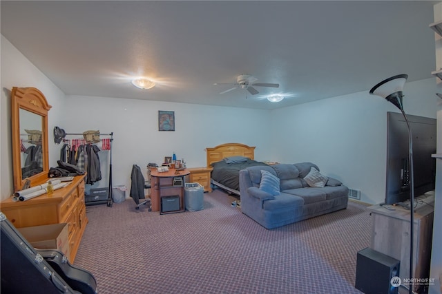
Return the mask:
<svg viewBox="0 0 442 294">
<path fill-rule="evenodd" d="M 414 196 L 435 187 L 436 119 L 407 115 L 412 131 Z M 410 162 L 408 129 L 401 113 L 387 112 L 387 180 L 385 204 L 401 204 L 410 200 Z"/>
</svg>

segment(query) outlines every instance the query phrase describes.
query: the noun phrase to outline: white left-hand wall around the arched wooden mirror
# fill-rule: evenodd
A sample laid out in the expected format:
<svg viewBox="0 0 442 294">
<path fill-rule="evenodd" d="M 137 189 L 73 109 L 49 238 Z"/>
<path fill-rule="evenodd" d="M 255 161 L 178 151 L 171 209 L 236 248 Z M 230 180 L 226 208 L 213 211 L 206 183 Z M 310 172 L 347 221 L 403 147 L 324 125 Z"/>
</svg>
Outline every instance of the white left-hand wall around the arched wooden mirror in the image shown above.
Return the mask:
<svg viewBox="0 0 442 294">
<path fill-rule="evenodd" d="M 35 65 L 30 63 L 3 35 L 1 35 L 1 143 L 0 143 L 0 199 L 14 192 L 12 182 L 11 112 L 10 91 L 12 87 L 37 87 L 46 96 L 52 109 L 49 111 L 48 127 L 53 129 L 63 115 L 57 112 L 64 102 L 64 93 L 56 87 Z M 52 133 L 50 133 L 52 134 Z M 52 139 L 52 136 L 49 136 Z M 50 165 L 55 161 L 55 145 L 49 142 Z"/>
</svg>

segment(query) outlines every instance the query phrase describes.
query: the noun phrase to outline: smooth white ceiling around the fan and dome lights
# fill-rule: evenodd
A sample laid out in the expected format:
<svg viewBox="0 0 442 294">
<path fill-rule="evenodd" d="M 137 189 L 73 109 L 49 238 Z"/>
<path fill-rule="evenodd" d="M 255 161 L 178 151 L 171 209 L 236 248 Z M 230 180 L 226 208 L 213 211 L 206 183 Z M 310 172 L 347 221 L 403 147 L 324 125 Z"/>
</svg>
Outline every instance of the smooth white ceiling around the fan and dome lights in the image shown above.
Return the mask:
<svg viewBox="0 0 442 294">
<path fill-rule="evenodd" d="M 1 34 L 66 94 L 275 109 L 430 78 L 437 2 L 0 1 Z"/>
</svg>

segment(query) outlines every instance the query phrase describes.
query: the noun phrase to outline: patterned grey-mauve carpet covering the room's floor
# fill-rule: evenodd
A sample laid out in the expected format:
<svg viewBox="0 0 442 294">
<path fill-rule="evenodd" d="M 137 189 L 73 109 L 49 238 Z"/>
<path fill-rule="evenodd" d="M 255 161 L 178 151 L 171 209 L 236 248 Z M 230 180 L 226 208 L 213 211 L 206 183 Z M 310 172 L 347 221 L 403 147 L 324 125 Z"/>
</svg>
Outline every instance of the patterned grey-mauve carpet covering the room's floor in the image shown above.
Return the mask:
<svg viewBox="0 0 442 294">
<path fill-rule="evenodd" d="M 87 207 L 76 266 L 98 293 L 361 293 L 356 253 L 369 246 L 362 204 L 267 230 L 216 190 L 204 209 L 161 215 L 133 200 Z"/>
</svg>

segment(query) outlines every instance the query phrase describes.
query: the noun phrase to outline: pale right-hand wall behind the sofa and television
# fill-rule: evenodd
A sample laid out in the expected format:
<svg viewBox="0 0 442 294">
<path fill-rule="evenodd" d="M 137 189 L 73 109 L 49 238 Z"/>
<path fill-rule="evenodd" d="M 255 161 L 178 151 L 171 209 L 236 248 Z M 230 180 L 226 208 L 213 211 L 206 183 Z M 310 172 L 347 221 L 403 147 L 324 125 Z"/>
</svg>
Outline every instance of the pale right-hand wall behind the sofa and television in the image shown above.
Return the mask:
<svg viewBox="0 0 442 294">
<path fill-rule="evenodd" d="M 388 76 L 379 78 L 379 81 Z M 434 78 L 406 83 L 407 114 L 436 118 Z M 383 202 L 387 112 L 398 109 L 365 92 L 276 109 L 271 112 L 271 157 L 279 162 L 311 161 L 327 176 L 361 190 L 361 201 Z"/>
</svg>

